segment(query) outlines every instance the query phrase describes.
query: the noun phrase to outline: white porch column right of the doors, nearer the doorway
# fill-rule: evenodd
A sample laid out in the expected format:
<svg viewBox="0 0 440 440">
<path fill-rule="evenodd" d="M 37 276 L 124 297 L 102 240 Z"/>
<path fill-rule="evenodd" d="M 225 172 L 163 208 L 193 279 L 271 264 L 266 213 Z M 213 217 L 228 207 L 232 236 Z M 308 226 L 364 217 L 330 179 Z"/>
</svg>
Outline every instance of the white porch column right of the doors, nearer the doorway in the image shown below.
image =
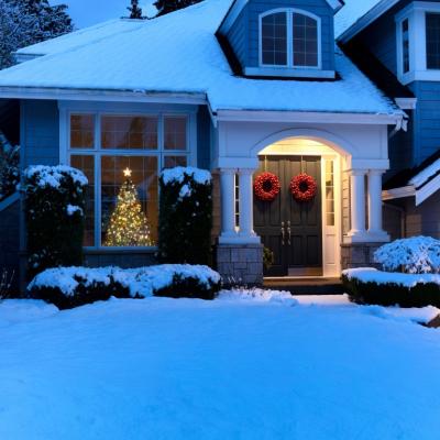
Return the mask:
<svg viewBox="0 0 440 440">
<path fill-rule="evenodd" d="M 364 169 L 353 169 L 350 176 L 351 230 L 349 237 L 356 241 L 367 241 L 365 237 L 365 174 Z"/>
</svg>

